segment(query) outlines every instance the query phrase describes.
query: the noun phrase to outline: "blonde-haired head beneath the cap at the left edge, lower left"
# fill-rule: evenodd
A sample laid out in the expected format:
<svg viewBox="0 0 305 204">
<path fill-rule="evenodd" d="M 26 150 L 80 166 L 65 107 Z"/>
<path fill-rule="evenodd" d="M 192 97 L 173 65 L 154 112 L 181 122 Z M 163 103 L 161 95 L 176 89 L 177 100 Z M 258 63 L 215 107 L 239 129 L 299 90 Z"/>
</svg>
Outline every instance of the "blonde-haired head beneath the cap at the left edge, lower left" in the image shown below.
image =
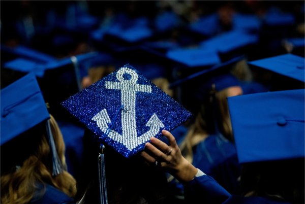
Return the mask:
<svg viewBox="0 0 305 204">
<path fill-rule="evenodd" d="M 55 119 L 50 118 L 51 131 L 53 134 L 57 154 L 63 166 L 65 161 L 65 143 L 62 133 Z M 1 201 L 2 203 L 27 203 L 29 202 L 39 184 L 50 184 L 62 190 L 70 196 L 76 193 L 76 181 L 67 172 L 63 171 L 57 176 L 52 176 L 52 153 L 43 132 L 45 126 L 40 124 L 28 130 L 21 138 L 18 138 L 18 145 L 6 144 L 2 147 L 2 153 L 12 152 L 2 156 L 2 175 L 1 175 Z M 31 145 L 28 144 L 28 137 L 31 137 Z M 40 189 L 41 195 L 44 189 Z"/>
</svg>

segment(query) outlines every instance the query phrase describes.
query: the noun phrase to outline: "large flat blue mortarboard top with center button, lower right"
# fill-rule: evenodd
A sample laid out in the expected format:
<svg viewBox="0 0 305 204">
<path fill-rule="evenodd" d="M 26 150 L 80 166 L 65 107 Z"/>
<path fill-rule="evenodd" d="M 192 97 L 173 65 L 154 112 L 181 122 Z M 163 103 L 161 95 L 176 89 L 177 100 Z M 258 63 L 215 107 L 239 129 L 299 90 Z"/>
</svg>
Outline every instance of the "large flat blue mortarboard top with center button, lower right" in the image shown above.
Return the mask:
<svg viewBox="0 0 305 204">
<path fill-rule="evenodd" d="M 304 157 L 304 89 L 228 98 L 240 163 Z"/>
</svg>

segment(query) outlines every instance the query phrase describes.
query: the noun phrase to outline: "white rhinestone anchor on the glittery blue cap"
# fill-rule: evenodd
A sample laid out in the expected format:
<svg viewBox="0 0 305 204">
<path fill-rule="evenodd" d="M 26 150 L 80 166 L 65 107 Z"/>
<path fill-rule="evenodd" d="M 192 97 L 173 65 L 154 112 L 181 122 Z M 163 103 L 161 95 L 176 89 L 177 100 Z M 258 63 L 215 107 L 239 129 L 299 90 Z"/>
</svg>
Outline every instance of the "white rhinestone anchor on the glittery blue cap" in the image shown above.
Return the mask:
<svg viewBox="0 0 305 204">
<path fill-rule="evenodd" d="M 124 74 L 129 74 L 131 76 L 130 80 L 124 79 Z M 149 130 L 137 137 L 136 92 L 141 91 L 151 93 L 151 86 L 137 84 L 137 73 L 128 67 L 122 67 L 117 71 L 116 78 L 120 82 L 106 81 L 105 86 L 107 89 L 121 90 L 121 104 L 124 105 L 124 110 L 121 112 L 122 135 L 111 129 L 108 137 L 120 144 L 123 144 L 127 149 L 132 151 L 139 145 L 147 142 L 150 137 L 155 136 L 159 132 L 160 128 L 164 127 L 164 124 L 154 113 L 146 123 Z M 107 131 L 108 124 L 111 123 L 106 109 L 103 109 L 96 114 L 92 120 L 97 122 L 97 125 L 103 132 Z"/>
</svg>

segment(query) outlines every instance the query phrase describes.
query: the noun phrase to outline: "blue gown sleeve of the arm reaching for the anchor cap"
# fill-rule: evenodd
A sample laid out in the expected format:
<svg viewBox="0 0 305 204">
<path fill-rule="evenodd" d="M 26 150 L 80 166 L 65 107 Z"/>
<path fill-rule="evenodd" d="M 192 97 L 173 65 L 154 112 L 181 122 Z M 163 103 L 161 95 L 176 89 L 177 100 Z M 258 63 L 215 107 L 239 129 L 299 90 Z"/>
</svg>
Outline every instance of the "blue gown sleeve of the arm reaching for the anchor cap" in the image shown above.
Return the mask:
<svg viewBox="0 0 305 204">
<path fill-rule="evenodd" d="M 185 184 L 186 203 L 223 203 L 230 193 L 212 177 L 204 175 L 195 177 Z"/>
</svg>

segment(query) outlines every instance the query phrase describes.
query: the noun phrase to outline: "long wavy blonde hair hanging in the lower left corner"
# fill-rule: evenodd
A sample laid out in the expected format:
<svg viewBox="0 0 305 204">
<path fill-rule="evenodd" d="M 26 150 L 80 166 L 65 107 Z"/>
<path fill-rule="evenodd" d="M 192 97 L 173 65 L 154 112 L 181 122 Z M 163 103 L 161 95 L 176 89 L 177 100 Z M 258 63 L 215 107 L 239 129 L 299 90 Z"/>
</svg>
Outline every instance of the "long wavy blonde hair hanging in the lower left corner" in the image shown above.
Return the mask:
<svg viewBox="0 0 305 204">
<path fill-rule="evenodd" d="M 57 154 L 63 165 L 66 166 L 63 135 L 55 119 L 50 117 Z M 12 169 L 1 176 L 1 202 L 4 204 L 28 203 L 40 189 L 40 184 L 50 184 L 71 197 L 76 194 L 76 181 L 67 171 L 52 176 L 52 157 L 46 135 L 37 135 L 33 138 L 37 139 L 36 144 L 38 144 L 33 151 L 34 153 L 23 161 L 21 167 Z M 44 192 L 45 188 L 42 188 L 38 193 L 42 196 Z"/>
</svg>

